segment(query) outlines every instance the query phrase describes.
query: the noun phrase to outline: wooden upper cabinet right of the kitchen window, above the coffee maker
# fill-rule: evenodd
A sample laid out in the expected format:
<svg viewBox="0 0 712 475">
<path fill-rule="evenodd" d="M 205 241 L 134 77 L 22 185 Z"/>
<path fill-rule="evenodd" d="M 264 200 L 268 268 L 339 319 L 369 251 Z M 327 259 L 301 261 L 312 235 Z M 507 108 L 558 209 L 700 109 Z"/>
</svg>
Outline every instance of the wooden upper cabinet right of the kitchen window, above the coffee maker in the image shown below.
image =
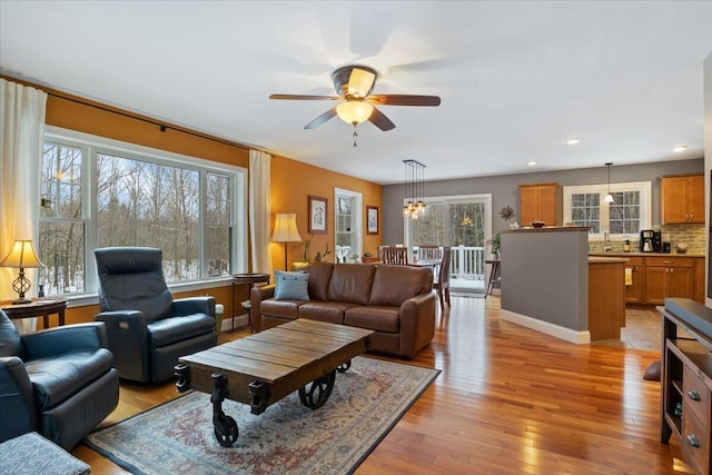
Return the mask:
<svg viewBox="0 0 712 475">
<path fill-rule="evenodd" d="M 704 176 L 702 174 L 662 177 L 660 197 L 663 225 L 704 224 Z"/>
</svg>

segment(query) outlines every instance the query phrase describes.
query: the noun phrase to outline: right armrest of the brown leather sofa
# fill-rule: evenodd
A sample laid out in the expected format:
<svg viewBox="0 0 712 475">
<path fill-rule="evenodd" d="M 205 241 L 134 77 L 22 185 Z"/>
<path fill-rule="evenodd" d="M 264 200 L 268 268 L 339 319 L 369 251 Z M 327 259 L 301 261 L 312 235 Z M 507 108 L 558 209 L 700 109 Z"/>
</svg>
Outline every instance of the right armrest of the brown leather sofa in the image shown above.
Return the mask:
<svg viewBox="0 0 712 475">
<path fill-rule="evenodd" d="M 437 296 L 434 293 L 417 295 L 400 305 L 399 356 L 412 358 L 433 340 L 436 305 Z"/>
</svg>

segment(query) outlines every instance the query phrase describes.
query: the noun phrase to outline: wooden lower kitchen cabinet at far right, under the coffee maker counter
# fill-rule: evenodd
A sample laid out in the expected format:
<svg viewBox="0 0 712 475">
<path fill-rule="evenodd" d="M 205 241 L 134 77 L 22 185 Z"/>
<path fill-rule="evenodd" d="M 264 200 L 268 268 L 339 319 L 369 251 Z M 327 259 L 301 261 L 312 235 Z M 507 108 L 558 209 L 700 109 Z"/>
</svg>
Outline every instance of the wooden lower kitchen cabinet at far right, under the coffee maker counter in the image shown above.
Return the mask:
<svg viewBox="0 0 712 475">
<path fill-rule="evenodd" d="M 694 263 L 684 257 L 645 258 L 645 303 L 663 305 L 666 297 L 693 298 Z"/>
</svg>

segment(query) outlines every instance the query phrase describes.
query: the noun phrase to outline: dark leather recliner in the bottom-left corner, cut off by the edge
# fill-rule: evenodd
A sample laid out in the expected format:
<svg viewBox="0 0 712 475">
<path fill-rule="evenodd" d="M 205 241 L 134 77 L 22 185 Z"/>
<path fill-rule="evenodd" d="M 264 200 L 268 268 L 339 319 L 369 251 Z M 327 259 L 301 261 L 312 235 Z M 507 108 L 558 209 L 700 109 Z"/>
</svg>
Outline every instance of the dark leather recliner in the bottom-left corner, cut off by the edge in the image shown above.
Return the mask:
<svg viewBox="0 0 712 475">
<path fill-rule="evenodd" d="M 103 324 L 19 335 L 0 310 L 0 442 L 38 432 L 70 449 L 118 404 Z"/>
</svg>

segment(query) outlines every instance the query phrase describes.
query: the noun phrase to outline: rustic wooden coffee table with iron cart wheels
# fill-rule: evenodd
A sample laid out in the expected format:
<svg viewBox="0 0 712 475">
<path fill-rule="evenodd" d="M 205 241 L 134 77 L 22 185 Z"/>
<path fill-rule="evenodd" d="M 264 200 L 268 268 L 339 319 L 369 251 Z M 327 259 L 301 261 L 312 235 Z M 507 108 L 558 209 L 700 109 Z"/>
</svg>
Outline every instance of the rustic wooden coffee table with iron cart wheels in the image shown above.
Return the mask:
<svg viewBox="0 0 712 475">
<path fill-rule="evenodd" d="M 370 348 L 374 331 L 297 319 L 246 338 L 178 358 L 176 387 L 210 394 L 215 436 L 224 447 L 238 437 L 237 423 L 222 412 L 227 399 L 249 404 L 261 414 L 283 397 L 299 392 L 301 403 L 317 409 L 326 403 L 336 372 Z"/>
</svg>

